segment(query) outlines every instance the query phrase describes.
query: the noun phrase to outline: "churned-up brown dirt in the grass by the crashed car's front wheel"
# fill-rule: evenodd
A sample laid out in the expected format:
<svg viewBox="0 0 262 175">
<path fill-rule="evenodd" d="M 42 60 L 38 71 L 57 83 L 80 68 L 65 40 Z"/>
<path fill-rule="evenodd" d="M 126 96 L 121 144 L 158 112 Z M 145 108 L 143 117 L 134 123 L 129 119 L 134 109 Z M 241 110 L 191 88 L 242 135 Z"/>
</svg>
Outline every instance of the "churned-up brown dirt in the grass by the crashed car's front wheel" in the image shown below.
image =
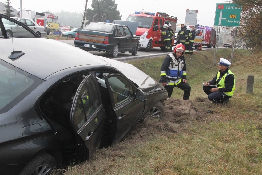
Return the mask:
<svg viewBox="0 0 262 175">
<path fill-rule="evenodd" d="M 206 111 L 199 111 L 192 106 L 191 100 L 170 98 L 164 102 L 165 114 L 159 119 L 145 118 L 137 124 L 136 128 L 125 141 L 137 142 L 146 139 L 149 134 L 165 134 L 179 132 L 183 126 L 192 120 L 202 120 L 207 115 Z"/>
</svg>

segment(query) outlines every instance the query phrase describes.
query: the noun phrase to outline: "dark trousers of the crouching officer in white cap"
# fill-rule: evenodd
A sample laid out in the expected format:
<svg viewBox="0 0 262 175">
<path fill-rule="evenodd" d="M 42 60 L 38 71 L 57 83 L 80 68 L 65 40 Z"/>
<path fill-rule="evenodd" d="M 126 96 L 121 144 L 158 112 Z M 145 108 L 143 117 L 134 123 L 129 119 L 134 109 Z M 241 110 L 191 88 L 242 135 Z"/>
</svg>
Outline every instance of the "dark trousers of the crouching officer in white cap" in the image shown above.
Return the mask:
<svg viewBox="0 0 262 175">
<path fill-rule="evenodd" d="M 223 101 L 231 98 L 230 96 L 227 96 L 221 91 L 211 92 L 210 90 L 214 88 L 212 86 L 203 86 L 204 92 L 208 95 L 208 99 L 210 101 L 216 102 L 216 103 L 223 103 Z"/>
</svg>

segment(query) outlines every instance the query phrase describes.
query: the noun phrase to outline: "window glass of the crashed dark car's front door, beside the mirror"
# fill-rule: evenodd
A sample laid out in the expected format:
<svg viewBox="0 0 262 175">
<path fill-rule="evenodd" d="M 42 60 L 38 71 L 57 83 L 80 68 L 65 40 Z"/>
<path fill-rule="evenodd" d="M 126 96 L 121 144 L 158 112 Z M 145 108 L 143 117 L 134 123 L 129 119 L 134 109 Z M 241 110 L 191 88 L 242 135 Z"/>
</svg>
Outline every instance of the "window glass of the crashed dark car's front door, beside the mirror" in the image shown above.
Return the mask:
<svg viewBox="0 0 262 175">
<path fill-rule="evenodd" d="M 115 106 L 134 97 L 132 85 L 122 76 L 116 75 L 108 78 Z"/>
</svg>

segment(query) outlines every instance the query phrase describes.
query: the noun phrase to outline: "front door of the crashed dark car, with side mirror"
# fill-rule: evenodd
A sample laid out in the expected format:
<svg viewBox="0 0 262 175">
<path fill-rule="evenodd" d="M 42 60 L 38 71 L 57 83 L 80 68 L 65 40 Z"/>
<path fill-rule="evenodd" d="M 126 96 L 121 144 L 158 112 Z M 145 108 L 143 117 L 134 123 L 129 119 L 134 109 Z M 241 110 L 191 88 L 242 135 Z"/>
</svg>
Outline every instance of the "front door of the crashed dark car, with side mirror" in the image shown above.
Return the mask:
<svg viewBox="0 0 262 175">
<path fill-rule="evenodd" d="M 137 125 L 144 112 L 145 103 L 137 100 L 136 88 L 120 74 L 105 75 L 113 111 L 117 117 L 117 129 L 113 143 L 125 138 Z"/>
</svg>

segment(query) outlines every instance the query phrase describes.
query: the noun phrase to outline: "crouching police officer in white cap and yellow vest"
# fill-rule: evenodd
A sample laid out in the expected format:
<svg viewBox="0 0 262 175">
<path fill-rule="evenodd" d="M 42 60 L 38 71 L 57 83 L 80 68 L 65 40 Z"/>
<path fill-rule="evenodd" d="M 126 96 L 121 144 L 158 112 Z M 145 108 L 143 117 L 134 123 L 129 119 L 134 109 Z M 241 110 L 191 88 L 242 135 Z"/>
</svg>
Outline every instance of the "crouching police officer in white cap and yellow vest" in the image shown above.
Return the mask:
<svg viewBox="0 0 262 175">
<path fill-rule="evenodd" d="M 210 101 L 227 103 L 235 91 L 235 74 L 228 68 L 231 65 L 230 61 L 220 58 L 220 62 L 217 64 L 216 76 L 211 81 L 204 83 L 203 90 Z"/>
</svg>

